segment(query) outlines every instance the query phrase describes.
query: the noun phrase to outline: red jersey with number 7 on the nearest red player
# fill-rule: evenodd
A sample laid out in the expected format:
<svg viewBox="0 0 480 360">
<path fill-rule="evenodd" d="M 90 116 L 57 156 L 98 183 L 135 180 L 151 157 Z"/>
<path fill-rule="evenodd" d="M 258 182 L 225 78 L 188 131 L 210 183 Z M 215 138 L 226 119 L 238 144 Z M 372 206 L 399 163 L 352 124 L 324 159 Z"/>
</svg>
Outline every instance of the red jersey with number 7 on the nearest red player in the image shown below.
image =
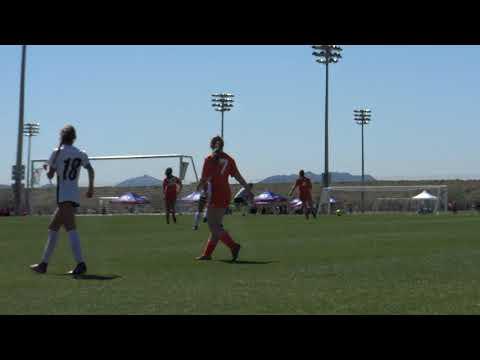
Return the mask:
<svg viewBox="0 0 480 360">
<path fill-rule="evenodd" d="M 209 155 L 203 163 L 202 180 L 210 181 L 212 186 L 210 207 L 226 209 L 230 204 L 232 193 L 228 177 L 238 172 L 235 160 L 221 152 L 217 158 Z"/>
</svg>

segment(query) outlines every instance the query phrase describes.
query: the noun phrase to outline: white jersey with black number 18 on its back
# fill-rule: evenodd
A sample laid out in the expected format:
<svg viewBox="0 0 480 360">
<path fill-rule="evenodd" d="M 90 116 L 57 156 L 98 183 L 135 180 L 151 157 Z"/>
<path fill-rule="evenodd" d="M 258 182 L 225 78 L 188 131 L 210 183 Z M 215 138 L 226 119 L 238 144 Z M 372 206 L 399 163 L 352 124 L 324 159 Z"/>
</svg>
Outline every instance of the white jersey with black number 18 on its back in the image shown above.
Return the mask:
<svg viewBox="0 0 480 360">
<path fill-rule="evenodd" d="M 72 145 L 62 145 L 60 152 L 55 150 L 50 156 L 48 165 L 57 172 L 57 203 L 71 201 L 80 205 L 80 166 L 87 167 L 90 162 L 84 151 Z"/>
</svg>

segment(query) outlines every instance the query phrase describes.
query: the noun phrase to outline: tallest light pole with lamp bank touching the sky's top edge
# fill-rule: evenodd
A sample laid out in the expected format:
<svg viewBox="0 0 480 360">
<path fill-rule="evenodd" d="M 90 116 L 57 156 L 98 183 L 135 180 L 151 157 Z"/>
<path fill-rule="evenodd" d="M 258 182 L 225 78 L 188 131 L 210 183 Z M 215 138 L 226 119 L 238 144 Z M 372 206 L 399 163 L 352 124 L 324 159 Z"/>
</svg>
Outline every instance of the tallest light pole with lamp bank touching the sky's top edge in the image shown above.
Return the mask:
<svg viewBox="0 0 480 360">
<path fill-rule="evenodd" d="M 342 58 L 342 48 L 338 45 L 313 45 L 313 56 L 319 64 L 325 65 L 325 170 L 323 172 L 323 186 L 330 186 L 328 169 L 328 65 L 336 64 Z"/>
</svg>

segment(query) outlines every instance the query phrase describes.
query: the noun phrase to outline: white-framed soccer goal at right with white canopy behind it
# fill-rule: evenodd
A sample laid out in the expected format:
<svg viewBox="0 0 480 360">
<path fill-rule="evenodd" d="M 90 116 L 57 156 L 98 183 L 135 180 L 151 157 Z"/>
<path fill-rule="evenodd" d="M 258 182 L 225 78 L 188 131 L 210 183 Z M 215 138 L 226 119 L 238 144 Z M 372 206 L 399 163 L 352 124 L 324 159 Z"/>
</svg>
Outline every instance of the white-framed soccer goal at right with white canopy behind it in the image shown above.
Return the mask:
<svg viewBox="0 0 480 360">
<path fill-rule="evenodd" d="M 323 189 L 318 211 L 431 212 L 448 211 L 447 185 L 332 186 Z"/>
</svg>

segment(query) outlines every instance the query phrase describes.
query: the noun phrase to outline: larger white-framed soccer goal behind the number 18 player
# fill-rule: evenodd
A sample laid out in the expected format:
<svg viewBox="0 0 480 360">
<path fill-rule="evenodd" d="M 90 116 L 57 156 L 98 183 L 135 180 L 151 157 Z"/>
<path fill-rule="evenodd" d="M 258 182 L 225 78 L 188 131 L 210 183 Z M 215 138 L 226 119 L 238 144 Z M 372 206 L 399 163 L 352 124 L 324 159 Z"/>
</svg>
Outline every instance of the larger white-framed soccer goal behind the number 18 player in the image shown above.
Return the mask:
<svg viewBox="0 0 480 360">
<path fill-rule="evenodd" d="M 198 182 L 195 161 L 185 154 L 160 155 L 113 155 L 89 157 L 95 169 L 95 196 L 87 199 L 84 195 L 88 184 L 86 171 L 82 171 L 79 185 L 81 191 L 80 213 L 161 213 L 164 211 L 162 181 L 167 167 L 179 177 L 187 191 Z M 50 182 L 44 165 L 47 159 L 35 159 L 30 163 L 31 214 L 51 214 L 56 206 L 55 179 Z M 187 172 L 189 167 L 192 172 Z M 133 194 L 134 201 L 118 201 L 122 195 Z M 145 198 L 146 201 L 136 201 Z M 120 200 L 123 200 L 122 197 Z"/>
</svg>

